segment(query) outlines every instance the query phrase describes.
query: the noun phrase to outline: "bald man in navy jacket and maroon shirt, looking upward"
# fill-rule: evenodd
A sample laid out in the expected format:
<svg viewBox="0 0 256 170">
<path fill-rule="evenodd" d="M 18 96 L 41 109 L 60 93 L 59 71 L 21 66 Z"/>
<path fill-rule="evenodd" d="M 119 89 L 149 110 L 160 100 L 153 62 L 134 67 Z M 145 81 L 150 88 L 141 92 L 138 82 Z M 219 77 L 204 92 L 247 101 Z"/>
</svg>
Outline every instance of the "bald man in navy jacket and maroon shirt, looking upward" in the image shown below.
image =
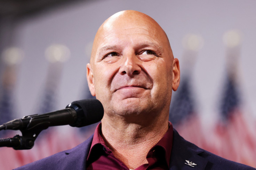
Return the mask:
<svg viewBox="0 0 256 170">
<path fill-rule="evenodd" d="M 21 169 L 254 169 L 185 141 L 168 122 L 179 61 L 151 17 L 127 10 L 108 18 L 96 33 L 87 80 L 104 107 L 94 135 Z"/>
</svg>

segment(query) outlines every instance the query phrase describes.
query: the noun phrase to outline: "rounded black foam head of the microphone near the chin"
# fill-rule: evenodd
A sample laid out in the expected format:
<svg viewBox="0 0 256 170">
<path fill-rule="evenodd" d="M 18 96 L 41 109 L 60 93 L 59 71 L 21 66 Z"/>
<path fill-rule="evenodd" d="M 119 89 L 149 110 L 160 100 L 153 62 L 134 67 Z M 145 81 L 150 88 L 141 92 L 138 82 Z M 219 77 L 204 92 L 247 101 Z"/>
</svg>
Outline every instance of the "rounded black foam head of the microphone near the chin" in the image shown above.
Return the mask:
<svg viewBox="0 0 256 170">
<path fill-rule="evenodd" d="M 77 122 L 72 127 L 83 127 L 95 124 L 103 118 L 104 109 L 97 99 L 83 99 L 70 103 L 66 108 L 73 108 L 77 112 Z"/>
</svg>

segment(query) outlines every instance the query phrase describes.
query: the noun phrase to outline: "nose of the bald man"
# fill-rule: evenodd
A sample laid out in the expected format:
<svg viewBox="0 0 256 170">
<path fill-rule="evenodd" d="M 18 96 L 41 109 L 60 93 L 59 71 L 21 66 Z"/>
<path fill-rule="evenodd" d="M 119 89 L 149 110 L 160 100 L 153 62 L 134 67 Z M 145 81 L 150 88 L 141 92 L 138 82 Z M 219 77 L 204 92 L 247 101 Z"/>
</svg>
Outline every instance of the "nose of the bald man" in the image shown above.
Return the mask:
<svg viewBox="0 0 256 170">
<path fill-rule="evenodd" d="M 123 65 L 119 69 L 119 74 L 134 76 L 141 73 L 141 67 L 138 65 L 138 58 L 135 55 L 125 57 Z"/>
</svg>

